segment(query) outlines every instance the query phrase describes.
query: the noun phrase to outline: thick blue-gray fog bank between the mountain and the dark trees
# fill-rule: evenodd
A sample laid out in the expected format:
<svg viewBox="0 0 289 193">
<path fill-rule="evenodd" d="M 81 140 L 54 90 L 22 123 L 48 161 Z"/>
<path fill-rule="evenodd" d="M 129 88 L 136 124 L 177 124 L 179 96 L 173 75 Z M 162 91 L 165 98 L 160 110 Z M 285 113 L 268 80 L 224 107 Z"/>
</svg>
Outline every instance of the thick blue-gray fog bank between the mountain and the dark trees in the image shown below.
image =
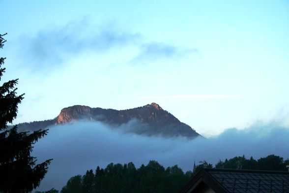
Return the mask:
<svg viewBox="0 0 289 193">
<path fill-rule="evenodd" d="M 123 127 L 123 126 L 122 126 Z M 101 123 L 55 126 L 35 144 L 38 161 L 53 158 L 39 190 L 60 190 L 69 177 L 84 174 L 97 165 L 126 163 L 136 166 L 149 160 L 164 166 L 178 164 L 184 170 L 206 160 L 215 164 L 235 156 L 255 159 L 275 154 L 289 158 L 289 128 L 277 123 L 256 124 L 244 130 L 228 129 L 217 137 L 187 141 L 184 138 L 147 137 L 121 132 Z"/>
</svg>

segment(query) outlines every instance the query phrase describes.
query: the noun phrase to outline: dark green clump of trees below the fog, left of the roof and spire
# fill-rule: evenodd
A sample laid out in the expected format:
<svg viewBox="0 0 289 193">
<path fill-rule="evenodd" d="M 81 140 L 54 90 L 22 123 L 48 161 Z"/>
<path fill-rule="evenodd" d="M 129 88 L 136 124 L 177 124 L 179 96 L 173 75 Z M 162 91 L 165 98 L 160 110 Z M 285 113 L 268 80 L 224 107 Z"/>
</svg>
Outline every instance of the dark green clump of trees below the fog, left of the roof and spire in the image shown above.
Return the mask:
<svg viewBox="0 0 289 193">
<path fill-rule="evenodd" d="M 87 170 L 70 178 L 60 193 L 176 193 L 191 177 L 177 165 L 165 169 L 157 161 L 138 169 L 132 162 L 110 163 L 105 169 L 97 166 L 95 174 Z"/>
</svg>

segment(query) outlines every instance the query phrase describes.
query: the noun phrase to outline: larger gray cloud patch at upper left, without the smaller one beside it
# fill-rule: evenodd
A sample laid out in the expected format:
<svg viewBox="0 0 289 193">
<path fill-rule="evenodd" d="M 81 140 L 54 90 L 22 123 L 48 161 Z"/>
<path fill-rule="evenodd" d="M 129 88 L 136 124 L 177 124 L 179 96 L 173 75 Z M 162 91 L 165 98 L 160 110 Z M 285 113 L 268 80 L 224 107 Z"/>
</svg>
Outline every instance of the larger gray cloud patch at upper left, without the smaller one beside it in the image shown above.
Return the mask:
<svg viewBox="0 0 289 193">
<path fill-rule="evenodd" d="M 34 36 L 21 37 L 26 57 L 36 68 L 61 63 L 65 55 L 87 50 L 106 51 L 114 46 L 125 46 L 142 39 L 139 33 L 118 32 L 88 24 L 87 20 L 71 22 L 64 27 L 45 29 Z M 49 66 L 48 65 L 48 66 Z"/>
</svg>

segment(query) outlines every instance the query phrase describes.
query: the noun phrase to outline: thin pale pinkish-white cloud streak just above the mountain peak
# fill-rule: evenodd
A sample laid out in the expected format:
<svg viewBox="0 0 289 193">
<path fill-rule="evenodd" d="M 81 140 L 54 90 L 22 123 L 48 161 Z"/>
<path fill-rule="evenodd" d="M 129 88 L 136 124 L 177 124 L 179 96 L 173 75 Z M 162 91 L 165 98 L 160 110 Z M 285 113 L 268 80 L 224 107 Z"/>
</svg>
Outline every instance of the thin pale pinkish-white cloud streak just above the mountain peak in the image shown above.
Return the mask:
<svg viewBox="0 0 289 193">
<path fill-rule="evenodd" d="M 229 99 L 241 95 L 171 95 L 171 96 L 141 96 L 139 99 Z"/>
</svg>

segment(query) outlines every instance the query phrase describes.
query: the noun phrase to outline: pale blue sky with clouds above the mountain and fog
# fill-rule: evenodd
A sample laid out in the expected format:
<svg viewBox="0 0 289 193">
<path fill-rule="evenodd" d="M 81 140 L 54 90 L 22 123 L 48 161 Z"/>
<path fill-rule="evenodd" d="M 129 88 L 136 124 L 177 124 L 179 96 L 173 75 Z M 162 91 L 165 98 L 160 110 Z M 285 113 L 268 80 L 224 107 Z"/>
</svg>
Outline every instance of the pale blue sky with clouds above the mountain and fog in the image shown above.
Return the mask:
<svg viewBox="0 0 289 193">
<path fill-rule="evenodd" d="M 14 123 L 156 102 L 204 136 L 289 125 L 288 0 L 1 0 Z"/>
</svg>

